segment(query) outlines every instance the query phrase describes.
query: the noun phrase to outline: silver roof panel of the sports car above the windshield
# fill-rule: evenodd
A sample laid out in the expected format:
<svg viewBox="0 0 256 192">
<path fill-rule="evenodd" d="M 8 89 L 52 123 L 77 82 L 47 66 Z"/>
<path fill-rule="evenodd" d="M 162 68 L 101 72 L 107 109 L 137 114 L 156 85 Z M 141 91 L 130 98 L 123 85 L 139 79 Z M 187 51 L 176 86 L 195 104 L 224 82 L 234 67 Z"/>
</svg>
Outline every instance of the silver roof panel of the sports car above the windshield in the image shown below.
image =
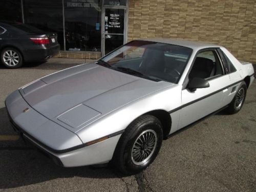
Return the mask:
<svg viewBox="0 0 256 192">
<path fill-rule="evenodd" d="M 188 47 L 194 50 L 212 48 L 212 47 L 218 47 L 218 48 L 221 47 L 215 44 L 210 44 L 208 42 L 184 40 L 184 39 L 178 39 L 178 38 L 141 38 L 138 40 L 161 42 L 164 44 L 172 44 L 172 45 L 177 45 L 182 47 Z"/>
</svg>

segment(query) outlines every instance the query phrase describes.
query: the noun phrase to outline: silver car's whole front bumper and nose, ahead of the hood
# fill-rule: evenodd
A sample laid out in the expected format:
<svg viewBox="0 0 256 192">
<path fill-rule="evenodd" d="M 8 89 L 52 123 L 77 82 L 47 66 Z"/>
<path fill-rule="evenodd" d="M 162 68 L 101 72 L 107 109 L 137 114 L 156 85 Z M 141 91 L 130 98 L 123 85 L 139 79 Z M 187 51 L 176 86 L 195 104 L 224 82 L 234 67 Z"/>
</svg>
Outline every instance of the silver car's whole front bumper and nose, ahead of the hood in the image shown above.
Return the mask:
<svg viewBox="0 0 256 192">
<path fill-rule="evenodd" d="M 53 159 L 56 164 L 65 167 L 110 161 L 121 136 L 121 134 L 116 135 L 102 142 L 85 146 L 76 134 L 32 109 L 19 91 L 7 97 L 6 108 L 15 131 Z M 23 110 L 27 108 L 29 111 L 24 112 Z"/>
</svg>

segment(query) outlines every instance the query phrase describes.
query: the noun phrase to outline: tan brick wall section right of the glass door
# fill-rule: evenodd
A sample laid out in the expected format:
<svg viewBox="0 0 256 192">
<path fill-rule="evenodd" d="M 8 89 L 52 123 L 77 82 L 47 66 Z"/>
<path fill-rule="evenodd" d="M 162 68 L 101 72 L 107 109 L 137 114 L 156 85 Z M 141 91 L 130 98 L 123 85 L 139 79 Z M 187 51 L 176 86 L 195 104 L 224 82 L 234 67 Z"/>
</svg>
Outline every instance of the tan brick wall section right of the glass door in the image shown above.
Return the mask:
<svg viewBox="0 0 256 192">
<path fill-rule="evenodd" d="M 129 0 L 128 40 L 214 42 L 256 63 L 256 0 Z"/>
</svg>

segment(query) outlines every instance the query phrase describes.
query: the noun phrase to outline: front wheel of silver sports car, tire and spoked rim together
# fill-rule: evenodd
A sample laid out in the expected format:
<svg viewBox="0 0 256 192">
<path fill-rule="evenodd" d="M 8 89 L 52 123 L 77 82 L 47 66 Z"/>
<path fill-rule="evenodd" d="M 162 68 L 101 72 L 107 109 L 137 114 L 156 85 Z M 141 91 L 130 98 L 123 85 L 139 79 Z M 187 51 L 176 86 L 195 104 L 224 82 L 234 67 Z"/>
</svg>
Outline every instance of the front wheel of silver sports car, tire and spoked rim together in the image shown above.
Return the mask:
<svg viewBox="0 0 256 192">
<path fill-rule="evenodd" d="M 120 137 L 112 164 L 125 175 L 137 174 L 155 160 L 162 140 L 161 122 L 152 115 L 140 116 Z"/>
</svg>

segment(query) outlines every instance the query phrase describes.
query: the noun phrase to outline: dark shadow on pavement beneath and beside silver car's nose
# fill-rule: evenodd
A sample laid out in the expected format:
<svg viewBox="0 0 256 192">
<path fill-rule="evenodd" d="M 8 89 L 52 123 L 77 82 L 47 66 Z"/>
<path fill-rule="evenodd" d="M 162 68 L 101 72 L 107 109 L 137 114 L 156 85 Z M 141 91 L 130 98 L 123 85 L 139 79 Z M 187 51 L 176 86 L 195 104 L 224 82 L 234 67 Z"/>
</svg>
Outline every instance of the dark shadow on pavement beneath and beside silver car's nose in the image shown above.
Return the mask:
<svg viewBox="0 0 256 192">
<path fill-rule="evenodd" d="M 0 109 L 0 136 L 15 135 L 6 108 Z M 0 137 L 1 138 L 1 137 Z M 118 178 L 110 167 L 61 167 L 27 145 L 21 138 L 16 141 L 0 140 L 0 189 L 41 183 L 59 178 Z"/>
</svg>

